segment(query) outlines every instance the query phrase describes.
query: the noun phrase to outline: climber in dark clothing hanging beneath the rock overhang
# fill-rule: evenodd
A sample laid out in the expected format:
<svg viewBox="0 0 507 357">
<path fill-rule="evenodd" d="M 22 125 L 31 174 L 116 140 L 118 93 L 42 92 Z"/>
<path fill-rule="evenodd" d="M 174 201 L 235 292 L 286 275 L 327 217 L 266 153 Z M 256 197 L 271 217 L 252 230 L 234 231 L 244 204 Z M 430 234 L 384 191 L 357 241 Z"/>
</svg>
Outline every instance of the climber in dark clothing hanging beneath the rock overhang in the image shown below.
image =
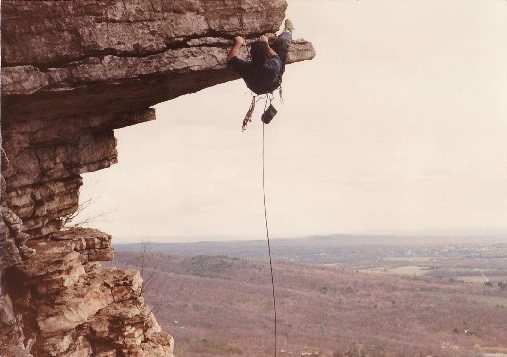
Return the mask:
<svg viewBox="0 0 507 357">
<path fill-rule="evenodd" d="M 271 93 L 280 86 L 293 30 L 292 21 L 285 20 L 284 30 L 275 40 L 273 47 L 269 46 L 266 35 L 261 36 L 251 45 L 251 61 L 238 58 L 241 46 L 246 42 L 241 36 L 234 38 L 235 44 L 229 51 L 227 62 L 255 94 Z"/>
</svg>

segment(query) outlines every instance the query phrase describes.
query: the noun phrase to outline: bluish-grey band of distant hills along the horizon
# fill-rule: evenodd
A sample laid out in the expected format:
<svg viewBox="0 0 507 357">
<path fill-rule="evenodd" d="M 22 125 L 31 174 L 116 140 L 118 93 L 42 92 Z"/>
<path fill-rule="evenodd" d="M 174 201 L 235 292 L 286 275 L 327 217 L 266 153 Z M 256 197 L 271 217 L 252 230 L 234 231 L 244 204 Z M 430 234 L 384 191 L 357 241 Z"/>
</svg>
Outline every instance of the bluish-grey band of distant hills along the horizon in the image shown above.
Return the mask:
<svg viewBox="0 0 507 357">
<path fill-rule="evenodd" d="M 161 238 L 157 238 L 161 240 Z M 276 259 L 299 260 L 319 263 L 350 261 L 354 256 L 376 255 L 377 257 L 402 254 L 403 247 L 443 246 L 452 244 L 495 244 L 507 243 L 502 237 L 415 237 L 388 235 L 333 234 L 303 238 L 272 239 L 272 253 Z M 203 241 L 190 243 L 139 242 L 114 244 L 117 251 L 139 252 L 143 244 L 150 252 L 177 255 L 226 255 L 239 258 L 267 258 L 266 240 Z M 400 252 L 392 252 L 397 247 Z"/>
</svg>

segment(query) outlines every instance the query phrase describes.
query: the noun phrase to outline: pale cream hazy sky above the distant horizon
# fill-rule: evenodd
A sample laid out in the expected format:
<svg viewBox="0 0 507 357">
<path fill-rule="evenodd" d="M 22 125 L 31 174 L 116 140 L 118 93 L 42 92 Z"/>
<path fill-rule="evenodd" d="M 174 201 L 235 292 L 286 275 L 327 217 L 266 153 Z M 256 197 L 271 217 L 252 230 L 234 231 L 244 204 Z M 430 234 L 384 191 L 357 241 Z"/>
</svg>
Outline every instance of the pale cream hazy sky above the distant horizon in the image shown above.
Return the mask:
<svg viewBox="0 0 507 357">
<path fill-rule="evenodd" d="M 317 57 L 288 67 L 266 127 L 273 237 L 507 229 L 506 1 L 292 0 L 288 16 Z M 84 175 L 92 225 L 262 238 L 249 102 L 238 80 L 117 130 L 119 164 Z"/>
</svg>

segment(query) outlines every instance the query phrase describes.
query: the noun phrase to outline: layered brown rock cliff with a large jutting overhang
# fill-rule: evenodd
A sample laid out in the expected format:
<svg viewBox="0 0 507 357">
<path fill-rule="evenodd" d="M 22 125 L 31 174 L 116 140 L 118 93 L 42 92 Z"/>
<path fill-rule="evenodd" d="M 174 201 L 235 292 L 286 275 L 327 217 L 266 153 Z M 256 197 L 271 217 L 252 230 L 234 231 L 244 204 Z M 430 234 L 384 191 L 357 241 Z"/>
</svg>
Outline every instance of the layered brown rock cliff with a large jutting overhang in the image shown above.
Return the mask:
<svg viewBox="0 0 507 357">
<path fill-rule="evenodd" d="M 2 1 L 0 355 L 172 355 L 139 273 L 97 263 L 112 259 L 111 237 L 63 224 L 78 209 L 80 174 L 116 163 L 114 129 L 237 79 L 226 66 L 231 38 L 275 32 L 286 7 Z M 289 62 L 314 55 L 295 41 Z"/>
</svg>

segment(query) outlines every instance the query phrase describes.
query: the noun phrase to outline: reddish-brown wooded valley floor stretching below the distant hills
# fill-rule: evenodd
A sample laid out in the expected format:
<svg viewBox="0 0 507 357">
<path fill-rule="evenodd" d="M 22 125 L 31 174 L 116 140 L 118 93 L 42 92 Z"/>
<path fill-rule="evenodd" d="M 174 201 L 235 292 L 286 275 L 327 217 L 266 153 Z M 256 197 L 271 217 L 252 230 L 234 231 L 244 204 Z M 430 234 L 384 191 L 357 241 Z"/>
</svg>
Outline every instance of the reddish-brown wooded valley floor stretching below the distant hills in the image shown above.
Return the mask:
<svg viewBox="0 0 507 357">
<path fill-rule="evenodd" d="M 507 259 L 500 256 L 504 251 L 486 249 L 482 256 L 489 252 L 495 258 L 477 260 L 470 258 L 468 249 L 459 248 L 459 255 L 456 249 L 412 247 L 410 256 L 429 259 L 383 260 L 386 251 L 403 258 L 406 249 L 352 247 L 354 263 L 332 261 L 329 255 L 325 262 L 317 258 L 313 263 L 297 262 L 294 257 L 277 259 L 279 349 L 287 356 L 303 352 L 323 356 L 504 353 L 507 289 L 498 282 L 468 283 L 457 278 L 482 279 L 482 273 L 489 279 L 505 277 Z M 421 254 L 415 254 L 417 250 Z M 453 253 L 443 253 L 449 251 Z M 308 255 L 304 249 L 298 249 L 298 254 Z M 141 260 L 139 251 L 118 251 L 114 264 L 141 268 Z M 147 301 L 176 338 L 180 356 L 272 355 L 271 280 L 266 260 L 177 256 L 157 248 L 145 254 L 143 270 Z"/>
</svg>

